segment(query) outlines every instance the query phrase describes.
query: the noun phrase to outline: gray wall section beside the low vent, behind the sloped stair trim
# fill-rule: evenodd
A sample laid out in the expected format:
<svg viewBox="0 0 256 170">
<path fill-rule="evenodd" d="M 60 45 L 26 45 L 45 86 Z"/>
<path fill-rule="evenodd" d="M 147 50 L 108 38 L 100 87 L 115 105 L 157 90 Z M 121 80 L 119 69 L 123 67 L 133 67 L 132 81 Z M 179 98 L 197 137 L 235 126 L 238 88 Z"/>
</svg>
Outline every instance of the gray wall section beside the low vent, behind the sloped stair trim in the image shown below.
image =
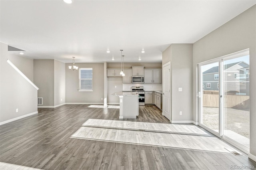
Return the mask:
<svg viewBox="0 0 256 170">
<path fill-rule="evenodd" d="M 39 88 L 38 97 L 43 105 L 54 107 L 54 60 L 34 59 L 34 83 Z"/>
</svg>

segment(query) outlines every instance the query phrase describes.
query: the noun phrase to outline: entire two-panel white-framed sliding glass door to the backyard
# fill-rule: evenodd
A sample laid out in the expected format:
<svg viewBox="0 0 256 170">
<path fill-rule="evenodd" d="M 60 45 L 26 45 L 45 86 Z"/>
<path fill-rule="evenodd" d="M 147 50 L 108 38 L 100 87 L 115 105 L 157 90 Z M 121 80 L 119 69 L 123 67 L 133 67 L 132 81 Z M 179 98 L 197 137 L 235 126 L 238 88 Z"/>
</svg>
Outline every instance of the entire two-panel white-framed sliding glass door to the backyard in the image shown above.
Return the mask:
<svg viewBox="0 0 256 170">
<path fill-rule="evenodd" d="M 235 144 L 249 148 L 249 50 L 200 63 L 200 126 Z"/>
</svg>

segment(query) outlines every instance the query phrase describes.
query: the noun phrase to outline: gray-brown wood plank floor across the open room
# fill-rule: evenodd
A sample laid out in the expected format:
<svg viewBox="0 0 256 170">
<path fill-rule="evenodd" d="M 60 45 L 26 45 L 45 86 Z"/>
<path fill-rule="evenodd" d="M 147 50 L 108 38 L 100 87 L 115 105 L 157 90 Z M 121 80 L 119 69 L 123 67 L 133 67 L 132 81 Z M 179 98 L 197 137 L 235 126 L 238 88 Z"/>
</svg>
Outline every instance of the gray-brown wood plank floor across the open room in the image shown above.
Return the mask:
<svg viewBox="0 0 256 170">
<path fill-rule="evenodd" d="M 107 133 L 113 130 L 113 125 L 105 120 L 118 121 L 118 126 L 125 125 L 125 129 L 144 132 L 142 127 L 127 128 L 130 121 L 146 123 L 146 130 L 159 124 L 161 127 L 170 122 L 161 115 L 161 111 L 154 106 L 140 106 L 138 119 L 124 119 L 119 121 L 119 109 L 90 107 L 90 105 L 63 105 L 55 109 L 38 109 L 38 115 L 33 115 L 0 126 L 0 162 L 16 164 L 39 169 L 230 169 L 231 165 L 254 166 L 256 162 L 248 159 L 247 155 L 234 156 L 228 152 L 216 149 L 222 145 L 210 145 L 209 141 L 218 141 L 229 146 L 216 138 L 206 130 L 190 125 L 191 128 L 184 130 L 186 125 L 175 125 L 162 134 L 180 135 L 179 140 L 169 139 L 170 143 L 178 142 L 179 147 L 147 146 L 144 144 L 127 144 L 116 141 L 101 141 L 94 138 L 90 140 L 70 138 L 81 127 L 100 128 Z M 102 122 L 100 123 L 100 120 Z M 90 120 L 96 120 L 98 127 L 92 127 Z M 87 123 L 86 123 L 87 122 Z M 148 123 L 153 123 L 150 127 Z M 83 125 L 84 124 L 84 125 Z M 127 125 L 128 124 L 128 125 Z M 132 123 L 130 123 L 132 124 Z M 170 124 L 170 125 L 168 125 Z M 99 126 L 100 125 L 100 126 Z M 89 127 L 90 126 L 90 127 Z M 148 129 L 149 128 L 149 129 Z M 106 130 L 107 129 L 107 130 Z M 163 129 L 163 128 L 161 128 Z M 167 128 L 166 128 L 167 129 Z M 176 129 L 176 130 L 175 130 Z M 179 130 L 180 129 L 180 130 Z M 198 130 L 193 130 L 198 129 Z M 120 129 L 118 129 L 120 130 Z M 92 130 L 90 131 L 92 132 Z M 96 132 L 97 129 L 96 129 Z M 125 134 L 122 134 L 125 135 Z M 161 135 L 160 135 L 161 136 Z M 163 135 L 162 135 L 163 136 Z M 203 136 L 202 138 L 198 138 Z M 154 138 L 148 135 L 144 138 Z M 155 138 L 159 136 L 155 135 Z M 164 139 L 164 138 L 163 138 Z M 211 140 L 208 140 L 211 139 Z M 162 140 L 162 139 L 160 139 Z M 198 141 L 195 142 L 195 141 Z M 203 145 L 205 142 L 205 145 Z M 194 145 L 199 149 L 186 149 Z M 180 147 L 182 146 L 182 147 Z M 206 148 L 204 148 L 206 147 Z M 232 148 L 232 146 L 230 146 Z"/>
</svg>

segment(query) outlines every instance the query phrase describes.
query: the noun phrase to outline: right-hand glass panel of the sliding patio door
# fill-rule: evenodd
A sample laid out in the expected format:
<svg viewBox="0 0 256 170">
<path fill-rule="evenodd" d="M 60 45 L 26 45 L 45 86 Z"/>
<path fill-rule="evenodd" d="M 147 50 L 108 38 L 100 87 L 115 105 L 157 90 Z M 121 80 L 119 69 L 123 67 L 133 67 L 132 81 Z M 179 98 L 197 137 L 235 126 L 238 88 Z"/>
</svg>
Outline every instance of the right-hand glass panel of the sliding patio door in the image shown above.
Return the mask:
<svg viewBox="0 0 256 170">
<path fill-rule="evenodd" d="M 223 135 L 249 148 L 249 55 L 223 60 Z"/>
</svg>

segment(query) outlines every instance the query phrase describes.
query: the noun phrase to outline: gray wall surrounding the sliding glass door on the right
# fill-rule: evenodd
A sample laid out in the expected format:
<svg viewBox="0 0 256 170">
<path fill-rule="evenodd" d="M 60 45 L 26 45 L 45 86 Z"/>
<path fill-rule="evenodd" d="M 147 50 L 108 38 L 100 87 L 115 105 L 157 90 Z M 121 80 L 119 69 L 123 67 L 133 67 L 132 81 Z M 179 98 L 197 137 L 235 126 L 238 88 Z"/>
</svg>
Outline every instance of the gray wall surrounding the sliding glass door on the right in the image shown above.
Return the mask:
<svg viewBox="0 0 256 170">
<path fill-rule="evenodd" d="M 198 122 L 198 63 L 250 48 L 250 154 L 256 156 L 256 5 L 193 45 L 193 120 Z"/>
</svg>

